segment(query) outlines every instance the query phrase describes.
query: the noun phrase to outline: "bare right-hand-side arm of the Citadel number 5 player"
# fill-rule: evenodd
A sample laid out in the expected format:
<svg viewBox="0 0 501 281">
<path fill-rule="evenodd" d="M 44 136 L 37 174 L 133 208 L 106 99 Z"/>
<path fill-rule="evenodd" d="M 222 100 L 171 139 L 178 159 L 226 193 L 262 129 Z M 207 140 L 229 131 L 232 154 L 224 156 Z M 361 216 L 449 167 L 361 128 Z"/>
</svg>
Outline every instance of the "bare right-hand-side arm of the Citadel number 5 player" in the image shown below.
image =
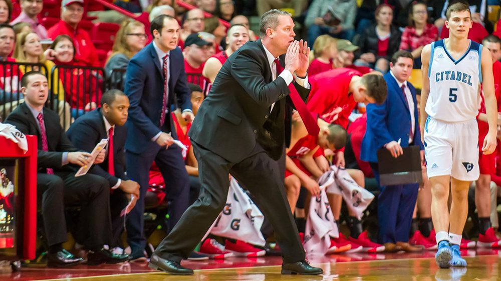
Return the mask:
<svg viewBox="0 0 501 281">
<path fill-rule="evenodd" d="M 492 57 L 487 48 L 482 48 L 482 87 L 485 97 L 485 112 L 489 131 L 483 140 L 483 154 L 490 154 L 496 148 L 497 102 L 494 94 L 494 76 L 492 75 Z"/>
</svg>

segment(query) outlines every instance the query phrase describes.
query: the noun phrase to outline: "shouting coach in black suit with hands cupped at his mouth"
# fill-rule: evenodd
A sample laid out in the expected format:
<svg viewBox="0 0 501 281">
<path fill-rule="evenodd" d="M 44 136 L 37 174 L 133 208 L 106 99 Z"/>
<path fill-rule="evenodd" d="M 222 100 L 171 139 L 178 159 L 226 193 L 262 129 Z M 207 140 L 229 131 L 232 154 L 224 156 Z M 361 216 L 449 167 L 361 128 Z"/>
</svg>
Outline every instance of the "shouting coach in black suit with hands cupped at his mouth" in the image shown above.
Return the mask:
<svg viewBox="0 0 501 281">
<path fill-rule="evenodd" d="M 298 97 L 302 102 L 309 93 L 309 49 L 306 42 L 294 40 L 293 27 L 290 13 L 266 12 L 260 22 L 262 39 L 240 47 L 217 74 L 189 131 L 198 160 L 200 196 L 152 254 L 151 268 L 193 273 L 180 261 L 223 209 L 231 173 L 258 198 L 273 225 L 283 252 L 282 273 L 323 272 L 305 261 L 277 163 L 284 151 L 286 101 Z"/>
</svg>

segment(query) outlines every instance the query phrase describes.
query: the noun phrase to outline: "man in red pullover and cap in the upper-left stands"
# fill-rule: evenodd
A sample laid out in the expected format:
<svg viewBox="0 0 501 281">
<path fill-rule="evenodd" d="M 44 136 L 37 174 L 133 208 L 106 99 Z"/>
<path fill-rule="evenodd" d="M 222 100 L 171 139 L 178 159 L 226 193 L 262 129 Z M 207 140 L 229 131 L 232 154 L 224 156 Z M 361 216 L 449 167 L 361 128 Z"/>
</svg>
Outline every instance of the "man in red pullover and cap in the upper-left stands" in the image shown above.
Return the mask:
<svg viewBox="0 0 501 281">
<path fill-rule="evenodd" d="M 60 34 L 70 36 L 75 43 L 75 59 L 88 66 L 101 66 L 96 47 L 87 31 L 78 24 L 84 14 L 84 0 L 63 0 L 61 2 L 61 20 L 47 31 L 49 38 Z"/>
</svg>

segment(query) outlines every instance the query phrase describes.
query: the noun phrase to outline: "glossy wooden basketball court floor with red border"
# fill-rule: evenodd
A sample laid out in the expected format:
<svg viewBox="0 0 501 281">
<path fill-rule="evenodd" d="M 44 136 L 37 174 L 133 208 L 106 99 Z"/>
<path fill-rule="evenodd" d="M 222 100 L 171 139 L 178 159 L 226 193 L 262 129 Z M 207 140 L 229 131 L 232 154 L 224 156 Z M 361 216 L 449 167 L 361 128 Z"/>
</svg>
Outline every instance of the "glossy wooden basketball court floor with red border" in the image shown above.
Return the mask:
<svg viewBox="0 0 501 281">
<path fill-rule="evenodd" d="M 468 266 L 452 269 L 438 268 L 433 251 L 311 256 L 310 262 L 324 269 L 324 274 L 319 276 L 282 275 L 282 260 L 278 256 L 183 261 L 183 265 L 195 269 L 191 276 L 174 276 L 151 270 L 146 262 L 100 266 L 81 264 L 64 269 L 32 264 L 23 267 L 20 272 L 0 274 L 0 280 L 501 280 L 501 250 L 468 250 L 463 255 Z"/>
</svg>

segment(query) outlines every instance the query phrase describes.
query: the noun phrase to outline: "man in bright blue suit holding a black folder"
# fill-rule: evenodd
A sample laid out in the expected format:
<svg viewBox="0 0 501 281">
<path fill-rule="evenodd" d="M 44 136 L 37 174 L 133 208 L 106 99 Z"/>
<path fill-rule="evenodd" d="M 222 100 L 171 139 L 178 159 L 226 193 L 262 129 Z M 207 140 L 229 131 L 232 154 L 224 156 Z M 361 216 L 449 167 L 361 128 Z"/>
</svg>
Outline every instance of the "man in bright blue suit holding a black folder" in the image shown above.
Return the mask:
<svg viewBox="0 0 501 281">
<path fill-rule="evenodd" d="M 407 82 L 412 71 L 413 57 L 408 51 L 397 51 L 384 75 L 388 97 L 381 104 L 367 105 L 367 131 L 362 140 L 361 159 L 369 161 L 379 183 L 377 150 L 385 147 L 393 157 L 400 156 L 402 147 L 421 142 L 417 111 L 416 89 Z M 379 242 L 387 251 L 421 250 L 408 243 L 412 213 L 417 200 L 418 184 L 381 186 L 378 198 Z"/>
</svg>

